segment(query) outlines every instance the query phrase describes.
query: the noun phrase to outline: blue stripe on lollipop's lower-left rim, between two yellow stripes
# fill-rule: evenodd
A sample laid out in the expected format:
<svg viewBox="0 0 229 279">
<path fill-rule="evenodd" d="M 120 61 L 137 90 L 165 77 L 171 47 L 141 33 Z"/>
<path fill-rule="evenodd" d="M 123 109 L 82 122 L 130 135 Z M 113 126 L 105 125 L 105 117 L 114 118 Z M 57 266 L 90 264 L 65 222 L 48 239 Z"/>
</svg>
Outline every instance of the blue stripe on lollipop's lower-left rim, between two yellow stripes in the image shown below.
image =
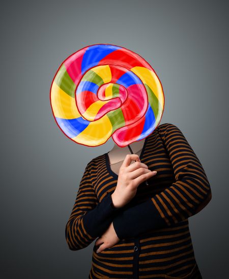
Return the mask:
<svg viewBox="0 0 229 279">
<path fill-rule="evenodd" d="M 71 138 L 77 136 L 90 124 L 90 121 L 85 120 L 82 117 L 75 119 L 63 119 L 56 117 L 55 119 L 64 133 Z"/>
</svg>

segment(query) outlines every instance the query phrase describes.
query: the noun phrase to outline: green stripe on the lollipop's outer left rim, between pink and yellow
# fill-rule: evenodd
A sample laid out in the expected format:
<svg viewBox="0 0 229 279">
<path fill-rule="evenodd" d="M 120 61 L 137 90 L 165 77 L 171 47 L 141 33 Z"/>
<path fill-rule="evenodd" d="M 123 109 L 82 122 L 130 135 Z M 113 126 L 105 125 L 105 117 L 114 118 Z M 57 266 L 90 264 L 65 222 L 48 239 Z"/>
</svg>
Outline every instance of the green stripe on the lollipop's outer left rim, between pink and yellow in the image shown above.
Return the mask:
<svg viewBox="0 0 229 279">
<path fill-rule="evenodd" d="M 66 71 L 66 67 L 64 64 L 61 66 L 58 73 L 56 74 L 54 82 L 69 96 L 73 98 L 75 97 L 76 85 L 69 77 L 69 74 Z"/>
</svg>

